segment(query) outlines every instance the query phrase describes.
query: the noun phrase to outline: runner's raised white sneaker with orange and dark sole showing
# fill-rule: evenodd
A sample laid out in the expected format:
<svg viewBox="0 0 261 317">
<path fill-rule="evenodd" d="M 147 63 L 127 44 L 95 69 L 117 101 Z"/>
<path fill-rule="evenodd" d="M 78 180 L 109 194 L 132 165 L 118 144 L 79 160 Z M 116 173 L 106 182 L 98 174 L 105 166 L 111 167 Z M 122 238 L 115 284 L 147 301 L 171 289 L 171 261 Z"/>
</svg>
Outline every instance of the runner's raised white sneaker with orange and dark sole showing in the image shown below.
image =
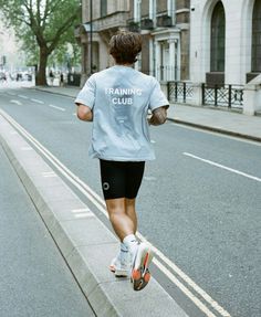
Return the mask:
<svg viewBox="0 0 261 317">
<path fill-rule="evenodd" d="M 133 257 L 130 283 L 133 284 L 134 290 L 142 290 L 148 284 L 150 279 L 148 265 L 150 264 L 153 256 L 154 254 L 150 247 L 142 242 Z"/>
</svg>

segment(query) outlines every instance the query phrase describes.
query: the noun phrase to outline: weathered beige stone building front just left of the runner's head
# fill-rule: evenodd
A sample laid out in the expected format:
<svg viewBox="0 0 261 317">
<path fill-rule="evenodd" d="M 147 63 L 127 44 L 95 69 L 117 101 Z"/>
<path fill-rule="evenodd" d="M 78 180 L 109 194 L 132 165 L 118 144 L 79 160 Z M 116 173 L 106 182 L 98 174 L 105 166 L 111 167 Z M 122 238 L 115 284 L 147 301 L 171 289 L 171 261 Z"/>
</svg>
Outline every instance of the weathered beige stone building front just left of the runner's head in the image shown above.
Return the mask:
<svg viewBox="0 0 261 317">
<path fill-rule="evenodd" d="M 83 23 L 75 29 L 82 46 L 82 85 L 92 73 L 112 65 L 108 41 L 118 30 L 126 30 L 128 19 L 129 0 L 82 1 Z"/>
</svg>

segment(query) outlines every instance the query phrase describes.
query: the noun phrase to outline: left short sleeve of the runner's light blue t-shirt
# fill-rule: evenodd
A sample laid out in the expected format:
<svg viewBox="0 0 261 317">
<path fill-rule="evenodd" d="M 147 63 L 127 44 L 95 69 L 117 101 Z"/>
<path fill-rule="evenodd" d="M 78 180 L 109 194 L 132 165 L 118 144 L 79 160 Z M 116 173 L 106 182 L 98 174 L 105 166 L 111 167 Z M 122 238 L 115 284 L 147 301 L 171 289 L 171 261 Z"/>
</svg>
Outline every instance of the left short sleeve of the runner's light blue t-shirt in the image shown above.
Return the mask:
<svg viewBox="0 0 261 317">
<path fill-rule="evenodd" d="M 77 94 L 74 103 L 83 104 L 92 109 L 95 103 L 95 77 L 92 75 L 83 86 L 82 91 Z"/>
</svg>

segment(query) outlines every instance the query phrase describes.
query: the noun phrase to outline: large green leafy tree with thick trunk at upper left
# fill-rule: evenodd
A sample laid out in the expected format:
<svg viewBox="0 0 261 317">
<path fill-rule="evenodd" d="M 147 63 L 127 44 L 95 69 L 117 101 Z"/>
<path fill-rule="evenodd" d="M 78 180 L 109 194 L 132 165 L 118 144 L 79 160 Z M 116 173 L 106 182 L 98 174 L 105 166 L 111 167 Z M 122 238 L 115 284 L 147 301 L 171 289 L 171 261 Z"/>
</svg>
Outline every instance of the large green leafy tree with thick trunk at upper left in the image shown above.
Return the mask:
<svg viewBox="0 0 261 317">
<path fill-rule="evenodd" d="M 74 41 L 72 29 L 81 20 L 81 1 L 0 0 L 0 8 L 27 50 L 32 52 L 31 57 L 38 54 L 36 85 L 46 85 L 48 59 L 56 47 Z"/>
</svg>

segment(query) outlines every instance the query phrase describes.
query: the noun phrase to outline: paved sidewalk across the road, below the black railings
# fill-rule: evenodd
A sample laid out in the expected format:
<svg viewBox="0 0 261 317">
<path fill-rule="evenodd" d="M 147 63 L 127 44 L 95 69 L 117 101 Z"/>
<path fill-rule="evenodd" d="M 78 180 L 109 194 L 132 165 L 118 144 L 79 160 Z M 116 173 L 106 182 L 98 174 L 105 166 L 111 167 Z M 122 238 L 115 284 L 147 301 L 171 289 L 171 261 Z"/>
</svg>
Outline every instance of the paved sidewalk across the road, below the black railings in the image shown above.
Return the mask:
<svg viewBox="0 0 261 317">
<path fill-rule="evenodd" d="M 79 87 L 36 87 L 48 93 L 75 97 Z M 186 124 L 222 134 L 239 136 L 261 141 L 261 117 L 247 116 L 226 109 L 196 107 L 173 104 L 168 110 L 168 118 L 178 124 Z"/>
</svg>

